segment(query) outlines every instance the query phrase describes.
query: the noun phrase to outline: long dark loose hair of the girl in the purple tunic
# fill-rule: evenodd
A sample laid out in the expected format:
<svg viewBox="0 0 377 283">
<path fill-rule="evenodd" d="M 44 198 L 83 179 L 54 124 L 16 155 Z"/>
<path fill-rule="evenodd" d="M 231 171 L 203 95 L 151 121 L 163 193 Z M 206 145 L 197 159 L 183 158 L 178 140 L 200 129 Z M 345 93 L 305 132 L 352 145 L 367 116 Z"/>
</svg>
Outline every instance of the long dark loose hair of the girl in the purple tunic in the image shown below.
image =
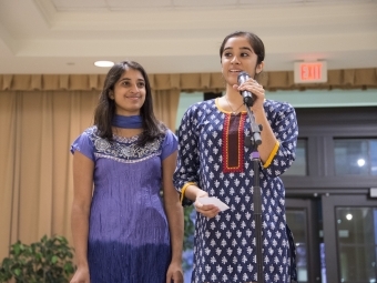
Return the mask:
<svg viewBox="0 0 377 283">
<path fill-rule="evenodd" d="M 109 70 L 104 80 L 103 90 L 100 94 L 99 103 L 94 111 L 94 124 L 96 125 L 98 134 L 101 138 L 109 141 L 113 140 L 112 120 L 115 115 L 115 100 L 110 99 L 110 93 L 114 91 L 114 85 L 121 79 L 122 74 L 130 69 L 140 71 L 145 81 L 145 101 L 140 109 L 140 115 L 143 121 L 143 132 L 137 141 L 137 144 L 143 146 L 145 143 L 163 137 L 166 127 L 154 115 L 151 84 L 144 68 L 137 62 L 122 61 L 114 64 Z"/>
</svg>

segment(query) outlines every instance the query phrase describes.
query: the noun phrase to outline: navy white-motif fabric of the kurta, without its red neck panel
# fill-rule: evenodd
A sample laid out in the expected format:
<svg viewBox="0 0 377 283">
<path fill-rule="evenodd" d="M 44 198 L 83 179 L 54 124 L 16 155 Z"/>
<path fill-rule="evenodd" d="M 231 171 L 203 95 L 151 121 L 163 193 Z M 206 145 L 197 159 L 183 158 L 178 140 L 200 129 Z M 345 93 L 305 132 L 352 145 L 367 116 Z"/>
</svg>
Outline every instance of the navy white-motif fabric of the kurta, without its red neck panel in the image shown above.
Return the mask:
<svg viewBox="0 0 377 283">
<path fill-rule="evenodd" d="M 278 175 L 294 161 L 297 123 L 289 104 L 266 100 L 264 107 L 281 145 L 271 165 L 259 170 L 263 275 L 266 283 L 291 282 L 285 190 Z M 225 117 L 214 100 L 200 102 L 186 111 L 179 132 L 181 151 L 174 185 L 182 188 L 187 181 L 196 182 L 231 208 L 214 219 L 196 215 L 193 283 L 257 281 L 252 150 L 243 149 L 244 172 L 223 172 Z M 248 129 L 246 118 L 243 138 L 249 135 Z"/>
</svg>

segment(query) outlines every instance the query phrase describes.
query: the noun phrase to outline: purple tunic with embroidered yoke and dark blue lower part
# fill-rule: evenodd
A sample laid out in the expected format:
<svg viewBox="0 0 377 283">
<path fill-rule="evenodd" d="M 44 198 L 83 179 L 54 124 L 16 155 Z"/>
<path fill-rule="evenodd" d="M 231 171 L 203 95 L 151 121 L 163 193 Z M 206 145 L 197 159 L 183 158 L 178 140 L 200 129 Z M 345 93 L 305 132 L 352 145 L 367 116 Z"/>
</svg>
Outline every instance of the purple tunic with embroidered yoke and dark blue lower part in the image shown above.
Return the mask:
<svg viewBox="0 0 377 283">
<path fill-rule="evenodd" d="M 171 262 L 162 161 L 177 148 L 170 131 L 140 148 L 139 137 L 109 142 L 86 129 L 71 145 L 94 162 L 88 260 L 91 283 L 165 283 Z"/>
</svg>

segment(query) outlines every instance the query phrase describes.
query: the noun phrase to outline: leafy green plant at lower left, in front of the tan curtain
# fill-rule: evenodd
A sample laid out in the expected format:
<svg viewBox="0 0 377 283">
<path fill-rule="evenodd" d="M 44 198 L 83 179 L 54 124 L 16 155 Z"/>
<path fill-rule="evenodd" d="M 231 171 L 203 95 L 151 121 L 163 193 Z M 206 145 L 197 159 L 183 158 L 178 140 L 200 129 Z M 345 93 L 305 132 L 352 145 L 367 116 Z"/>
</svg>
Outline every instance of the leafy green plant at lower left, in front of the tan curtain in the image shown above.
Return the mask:
<svg viewBox="0 0 377 283">
<path fill-rule="evenodd" d="M 0 282 L 67 283 L 74 272 L 73 249 L 63 236 L 48 237 L 26 245 L 20 241 L 10 247 L 0 266 Z"/>
</svg>

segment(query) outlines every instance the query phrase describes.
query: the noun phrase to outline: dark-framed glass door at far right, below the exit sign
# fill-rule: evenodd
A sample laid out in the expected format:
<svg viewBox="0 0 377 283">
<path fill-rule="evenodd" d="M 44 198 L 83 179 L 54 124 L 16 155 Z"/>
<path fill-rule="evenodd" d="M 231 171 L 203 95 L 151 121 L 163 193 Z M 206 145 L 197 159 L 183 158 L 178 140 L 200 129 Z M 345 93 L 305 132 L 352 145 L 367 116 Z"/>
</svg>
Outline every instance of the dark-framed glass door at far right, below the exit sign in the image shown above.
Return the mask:
<svg viewBox="0 0 377 283">
<path fill-rule="evenodd" d="M 323 196 L 327 282 L 377 282 L 377 200 Z"/>
</svg>

